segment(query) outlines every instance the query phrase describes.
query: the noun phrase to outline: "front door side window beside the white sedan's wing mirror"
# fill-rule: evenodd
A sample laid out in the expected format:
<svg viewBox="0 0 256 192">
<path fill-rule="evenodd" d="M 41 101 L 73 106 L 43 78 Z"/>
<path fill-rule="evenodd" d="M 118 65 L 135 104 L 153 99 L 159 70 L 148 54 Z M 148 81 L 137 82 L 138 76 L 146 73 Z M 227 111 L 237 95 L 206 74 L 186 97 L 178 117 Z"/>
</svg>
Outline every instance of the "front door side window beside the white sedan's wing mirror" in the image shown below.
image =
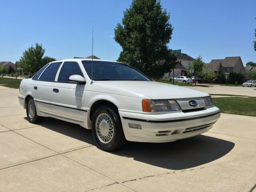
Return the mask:
<svg viewBox="0 0 256 192">
<path fill-rule="evenodd" d="M 64 62 L 60 70 L 58 82 L 69 83 L 68 78 L 71 75 L 83 76 L 82 71 L 77 62 Z"/>
</svg>

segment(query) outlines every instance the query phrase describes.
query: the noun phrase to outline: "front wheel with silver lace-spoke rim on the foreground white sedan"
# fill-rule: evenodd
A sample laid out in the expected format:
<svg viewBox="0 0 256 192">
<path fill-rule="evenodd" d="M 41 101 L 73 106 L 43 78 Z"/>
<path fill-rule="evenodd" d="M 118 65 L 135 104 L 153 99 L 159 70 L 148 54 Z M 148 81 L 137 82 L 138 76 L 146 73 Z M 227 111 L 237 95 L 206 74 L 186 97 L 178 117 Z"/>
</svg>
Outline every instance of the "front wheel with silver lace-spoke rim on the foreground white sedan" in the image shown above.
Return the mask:
<svg viewBox="0 0 256 192">
<path fill-rule="evenodd" d="M 92 136 L 97 146 L 106 151 L 116 150 L 126 143 L 120 117 L 109 106 L 101 106 L 94 112 Z"/>
</svg>

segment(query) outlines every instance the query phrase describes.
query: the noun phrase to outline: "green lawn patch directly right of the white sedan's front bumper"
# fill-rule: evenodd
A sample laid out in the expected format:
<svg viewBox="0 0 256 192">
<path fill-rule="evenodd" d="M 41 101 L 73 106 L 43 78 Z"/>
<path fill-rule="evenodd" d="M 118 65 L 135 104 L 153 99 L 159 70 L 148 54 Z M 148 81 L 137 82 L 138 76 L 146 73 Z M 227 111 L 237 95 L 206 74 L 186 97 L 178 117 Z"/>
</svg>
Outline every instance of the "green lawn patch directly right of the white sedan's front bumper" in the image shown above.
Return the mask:
<svg viewBox="0 0 256 192">
<path fill-rule="evenodd" d="M 256 98 L 221 97 L 212 100 L 222 113 L 256 116 Z"/>
</svg>

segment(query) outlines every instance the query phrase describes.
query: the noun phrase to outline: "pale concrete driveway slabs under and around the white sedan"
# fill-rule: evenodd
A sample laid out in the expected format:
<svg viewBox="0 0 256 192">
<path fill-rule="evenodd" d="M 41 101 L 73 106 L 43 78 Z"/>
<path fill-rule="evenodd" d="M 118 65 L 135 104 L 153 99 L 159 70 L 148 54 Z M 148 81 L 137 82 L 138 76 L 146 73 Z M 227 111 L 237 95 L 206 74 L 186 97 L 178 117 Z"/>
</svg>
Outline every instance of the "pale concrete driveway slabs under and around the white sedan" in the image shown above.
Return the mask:
<svg viewBox="0 0 256 192">
<path fill-rule="evenodd" d="M 193 138 L 104 152 L 78 125 L 30 124 L 17 95 L 0 86 L 0 191 L 255 191 L 255 117 L 221 114 Z"/>
</svg>

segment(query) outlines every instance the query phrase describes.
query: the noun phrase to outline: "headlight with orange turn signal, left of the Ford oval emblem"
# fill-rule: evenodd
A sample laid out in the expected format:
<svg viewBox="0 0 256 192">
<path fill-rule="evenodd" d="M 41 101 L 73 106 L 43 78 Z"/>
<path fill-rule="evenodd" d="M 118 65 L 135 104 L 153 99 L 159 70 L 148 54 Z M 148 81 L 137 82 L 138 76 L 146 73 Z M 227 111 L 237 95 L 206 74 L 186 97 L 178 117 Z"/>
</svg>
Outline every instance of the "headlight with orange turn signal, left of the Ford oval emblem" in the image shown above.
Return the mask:
<svg viewBox="0 0 256 192">
<path fill-rule="evenodd" d="M 144 112 L 166 112 L 181 110 L 176 100 L 142 100 L 142 110 Z"/>
</svg>

